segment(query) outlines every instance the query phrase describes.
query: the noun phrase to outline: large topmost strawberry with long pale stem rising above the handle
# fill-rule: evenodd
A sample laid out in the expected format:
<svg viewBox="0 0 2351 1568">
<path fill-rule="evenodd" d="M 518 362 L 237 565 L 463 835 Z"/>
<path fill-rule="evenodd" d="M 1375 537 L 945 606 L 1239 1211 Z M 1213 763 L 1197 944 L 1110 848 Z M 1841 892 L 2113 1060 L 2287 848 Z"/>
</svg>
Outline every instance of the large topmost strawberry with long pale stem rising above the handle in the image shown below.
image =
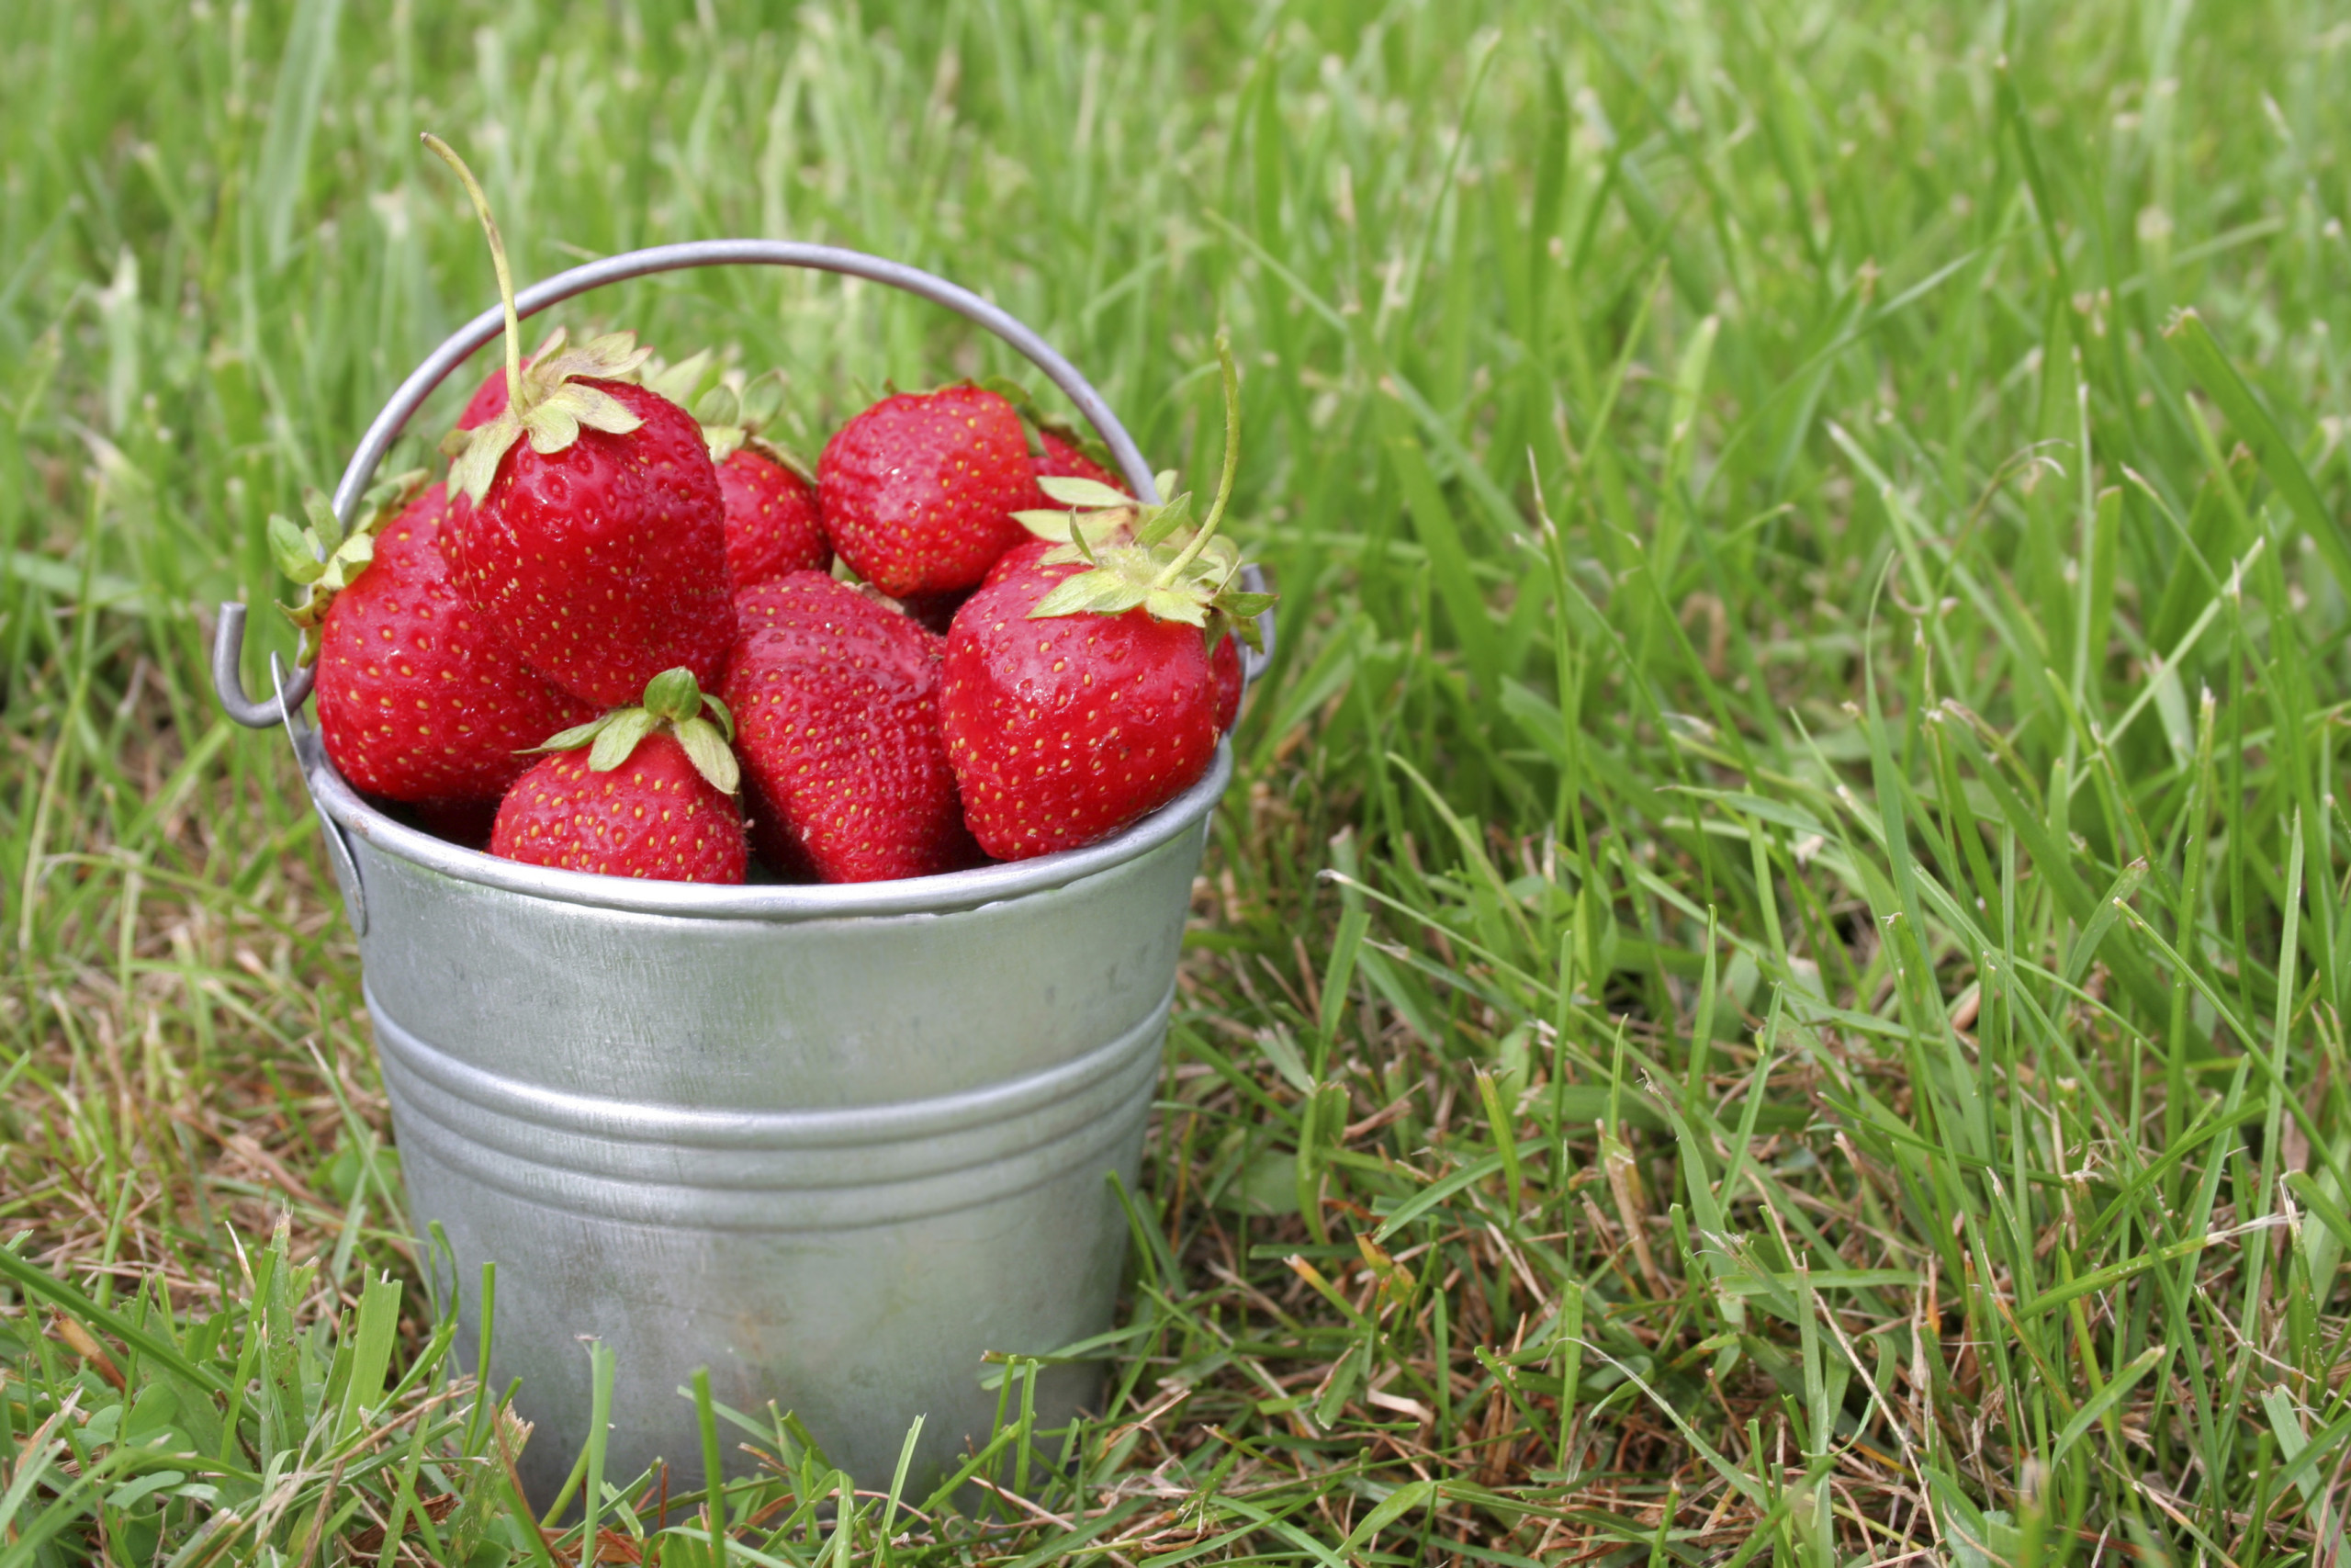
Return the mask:
<svg viewBox="0 0 2351 1568">
<path fill-rule="evenodd" d="M 628 703 L 677 665 L 717 684 L 734 604 L 724 501 L 701 425 L 623 381 L 647 357 L 625 331 L 578 348 L 557 331 L 522 369 L 489 202 L 447 143 L 426 141 L 482 216 L 505 303 L 508 407 L 449 470 L 463 498 L 449 522 L 458 590 L 534 670 L 595 703 Z"/>
</svg>

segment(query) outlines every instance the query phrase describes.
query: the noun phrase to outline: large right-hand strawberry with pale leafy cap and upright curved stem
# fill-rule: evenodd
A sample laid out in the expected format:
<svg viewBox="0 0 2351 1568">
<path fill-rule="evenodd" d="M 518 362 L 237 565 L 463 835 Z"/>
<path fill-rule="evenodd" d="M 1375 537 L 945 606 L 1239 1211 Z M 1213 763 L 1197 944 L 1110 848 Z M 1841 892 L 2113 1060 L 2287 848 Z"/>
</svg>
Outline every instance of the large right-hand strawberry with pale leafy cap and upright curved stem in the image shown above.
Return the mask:
<svg viewBox="0 0 2351 1568">
<path fill-rule="evenodd" d="M 1091 844 L 1208 771 L 1230 722 L 1208 637 L 1253 639 L 1270 604 L 1234 588 L 1239 555 L 1215 538 L 1239 456 L 1223 339 L 1218 355 L 1225 470 L 1199 529 L 1187 527 L 1190 496 L 1136 505 L 1100 480 L 1046 475 L 1044 494 L 1098 510 L 1058 517 L 1067 543 L 1009 552 L 955 614 L 940 729 L 964 823 L 999 860 Z M 1056 515 L 1025 522 L 1051 529 Z M 1239 654 L 1230 658 L 1239 675 Z"/>
</svg>

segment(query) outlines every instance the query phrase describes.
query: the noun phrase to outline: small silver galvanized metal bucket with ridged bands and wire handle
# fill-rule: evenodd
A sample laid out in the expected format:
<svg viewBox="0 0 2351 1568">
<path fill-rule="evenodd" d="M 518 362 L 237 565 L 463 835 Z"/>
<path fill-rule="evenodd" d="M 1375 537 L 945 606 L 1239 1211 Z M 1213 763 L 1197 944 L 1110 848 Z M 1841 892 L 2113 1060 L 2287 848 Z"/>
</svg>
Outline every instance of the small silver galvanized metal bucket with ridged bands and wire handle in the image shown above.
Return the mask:
<svg viewBox="0 0 2351 1568">
<path fill-rule="evenodd" d="M 517 303 L 534 315 L 726 263 L 849 273 L 971 317 L 1157 498 L 1133 440 L 1053 348 L 893 261 L 668 244 Z M 346 524 L 409 416 L 498 331 L 484 310 L 393 395 L 336 487 Z M 679 1389 L 708 1366 L 717 1401 L 795 1413 L 860 1486 L 889 1486 L 922 1415 L 922 1488 L 987 1439 L 983 1354 L 1110 1328 L 1126 1215 L 1107 1178 L 1136 1180 L 1230 748 L 1124 835 L 1039 860 L 860 886 L 628 882 L 473 853 L 376 811 L 301 719 L 308 672 L 247 698 L 242 630 L 245 607 L 223 604 L 221 703 L 294 738 L 360 933 L 411 1215 L 456 1253 L 458 1345 L 480 1333 L 473 1281 L 498 1265 L 487 1382 L 522 1378 L 515 1406 L 541 1434 L 522 1479 L 541 1505 L 588 1434 L 581 1338 L 618 1363 L 607 1476 L 668 1460 L 675 1486 L 701 1483 Z M 1049 1366 L 1039 1425 L 1098 1387 L 1093 1366 Z"/>
</svg>

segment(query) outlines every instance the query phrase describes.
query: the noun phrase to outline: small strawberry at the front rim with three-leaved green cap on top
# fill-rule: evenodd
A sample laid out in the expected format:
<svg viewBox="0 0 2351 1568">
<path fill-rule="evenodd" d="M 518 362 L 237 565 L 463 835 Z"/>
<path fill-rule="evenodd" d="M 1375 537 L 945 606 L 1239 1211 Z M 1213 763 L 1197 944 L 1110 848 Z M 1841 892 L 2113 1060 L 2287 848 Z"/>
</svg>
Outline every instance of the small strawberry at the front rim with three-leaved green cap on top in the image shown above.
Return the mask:
<svg viewBox="0 0 2351 1568">
<path fill-rule="evenodd" d="M 505 792 L 489 853 L 604 877 L 743 882 L 750 846 L 726 722 L 726 705 L 703 696 L 691 670 L 663 670 L 639 708 L 538 748 L 552 755 Z"/>
</svg>

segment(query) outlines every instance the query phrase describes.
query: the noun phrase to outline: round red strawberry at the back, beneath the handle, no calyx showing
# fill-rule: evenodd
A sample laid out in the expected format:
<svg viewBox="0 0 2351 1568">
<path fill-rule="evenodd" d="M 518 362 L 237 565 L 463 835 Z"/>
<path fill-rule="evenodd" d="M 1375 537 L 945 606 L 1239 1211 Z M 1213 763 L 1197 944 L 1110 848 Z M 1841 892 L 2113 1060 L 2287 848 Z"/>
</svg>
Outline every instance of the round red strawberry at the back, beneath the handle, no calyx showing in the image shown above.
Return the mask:
<svg viewBox="0 0 2351 1568">
<path fill-rule="evenodd" d="M 893 599 L 978 583 L 1037 494 L 1020 416 L 978 386 L 884 397 L 832 435 L 816 487 L 832 548 Z"/>
</svg>

